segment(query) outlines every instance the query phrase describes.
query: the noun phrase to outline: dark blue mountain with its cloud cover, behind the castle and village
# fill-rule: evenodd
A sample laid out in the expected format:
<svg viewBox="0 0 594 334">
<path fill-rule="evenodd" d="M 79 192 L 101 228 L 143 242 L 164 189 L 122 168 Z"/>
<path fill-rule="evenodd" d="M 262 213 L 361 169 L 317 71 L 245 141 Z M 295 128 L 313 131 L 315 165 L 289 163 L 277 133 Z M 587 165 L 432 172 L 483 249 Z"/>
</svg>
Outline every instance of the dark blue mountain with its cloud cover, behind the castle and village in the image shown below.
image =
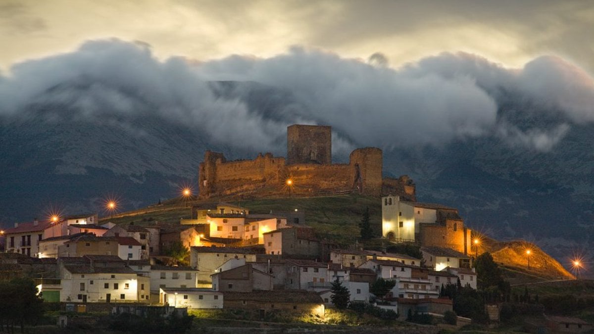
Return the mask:
<svg viewBox="0 0 594 334">
<path fill-rule="evenodd" d="M 568 240 L 594 244 L 593 122 L 592 75 L 556 56 L 505 68 L 442 53 L 391 68 L 379 52 L 295 47 L 198 62 L 97 40 L 0 75 L 0 219 L 101 210 L 108 194 L 146 206 L 195 182 L 206 149 L 285 155 L 287 125 L 323 124 L 334 160 L 380 147 L 384 172 L 409 174 L 420 200 L 559 256 L 577 247 Z"/>
</svg>

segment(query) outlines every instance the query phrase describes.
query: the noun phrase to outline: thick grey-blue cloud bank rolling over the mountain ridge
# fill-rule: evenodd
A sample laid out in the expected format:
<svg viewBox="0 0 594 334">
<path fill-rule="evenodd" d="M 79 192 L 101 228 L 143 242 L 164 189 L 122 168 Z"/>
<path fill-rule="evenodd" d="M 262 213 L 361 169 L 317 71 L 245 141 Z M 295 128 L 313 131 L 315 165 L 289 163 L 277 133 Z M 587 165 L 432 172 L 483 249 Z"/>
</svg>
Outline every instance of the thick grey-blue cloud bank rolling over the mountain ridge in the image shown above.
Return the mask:
<svg viewBox="0 0 594 334">
<path fill-rule="evenodd" d="M 150 114 L 222 144 L 276 152 L 282 152 L 286 125 L 327 124 L 338 153 L 482 136 L 547 151 L 571 125 L 594 121 L 593 78 L 554 56 L 523 68 L 467 53 L 443 53 L 401 68 L 388 67 L 381 53 L 369 61 L 299 47 L 271 58 L 159 61 L 143 43 L 91 41 L 75 52 L 14 65 L 0 76 L 0 117 L 27 116 L 32 105 L 68 105 L 81 120 L 129 119 L 133 127 L 134 118 Z M 236 97 L 214 94 L 211 81 L 220 80 L 276 87 L 295 103 L 267 115 Z M 536 106 L 521 112 L 560 120 L 545 128 L 510 124 L 498 114 L 510 94 Z"/>
</svg>

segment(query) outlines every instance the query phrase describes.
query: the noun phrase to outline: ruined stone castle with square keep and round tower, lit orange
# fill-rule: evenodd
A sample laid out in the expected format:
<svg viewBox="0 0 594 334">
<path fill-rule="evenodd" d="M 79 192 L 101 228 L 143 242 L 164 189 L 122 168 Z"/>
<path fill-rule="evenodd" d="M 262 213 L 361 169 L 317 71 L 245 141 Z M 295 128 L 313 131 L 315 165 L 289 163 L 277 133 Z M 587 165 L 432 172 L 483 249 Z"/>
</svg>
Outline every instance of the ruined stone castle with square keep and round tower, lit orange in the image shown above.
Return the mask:
<svg viewBox="0 0 594 334">
<path fill-rule="evenodd" d="M 356 149 L 349 163 L 333 164 L 331 137 L 331 127 L 295 124 L 287 128 L 287 158 L 266 153 L 254 160 L 227 161 L 222 153 L 207 150 L 198 170 L 200 197 L 360 193 L 415 200 L 415 184 L 406 175 L 383 178 L 383 155 L 376 147 Z"/>
</svg>

